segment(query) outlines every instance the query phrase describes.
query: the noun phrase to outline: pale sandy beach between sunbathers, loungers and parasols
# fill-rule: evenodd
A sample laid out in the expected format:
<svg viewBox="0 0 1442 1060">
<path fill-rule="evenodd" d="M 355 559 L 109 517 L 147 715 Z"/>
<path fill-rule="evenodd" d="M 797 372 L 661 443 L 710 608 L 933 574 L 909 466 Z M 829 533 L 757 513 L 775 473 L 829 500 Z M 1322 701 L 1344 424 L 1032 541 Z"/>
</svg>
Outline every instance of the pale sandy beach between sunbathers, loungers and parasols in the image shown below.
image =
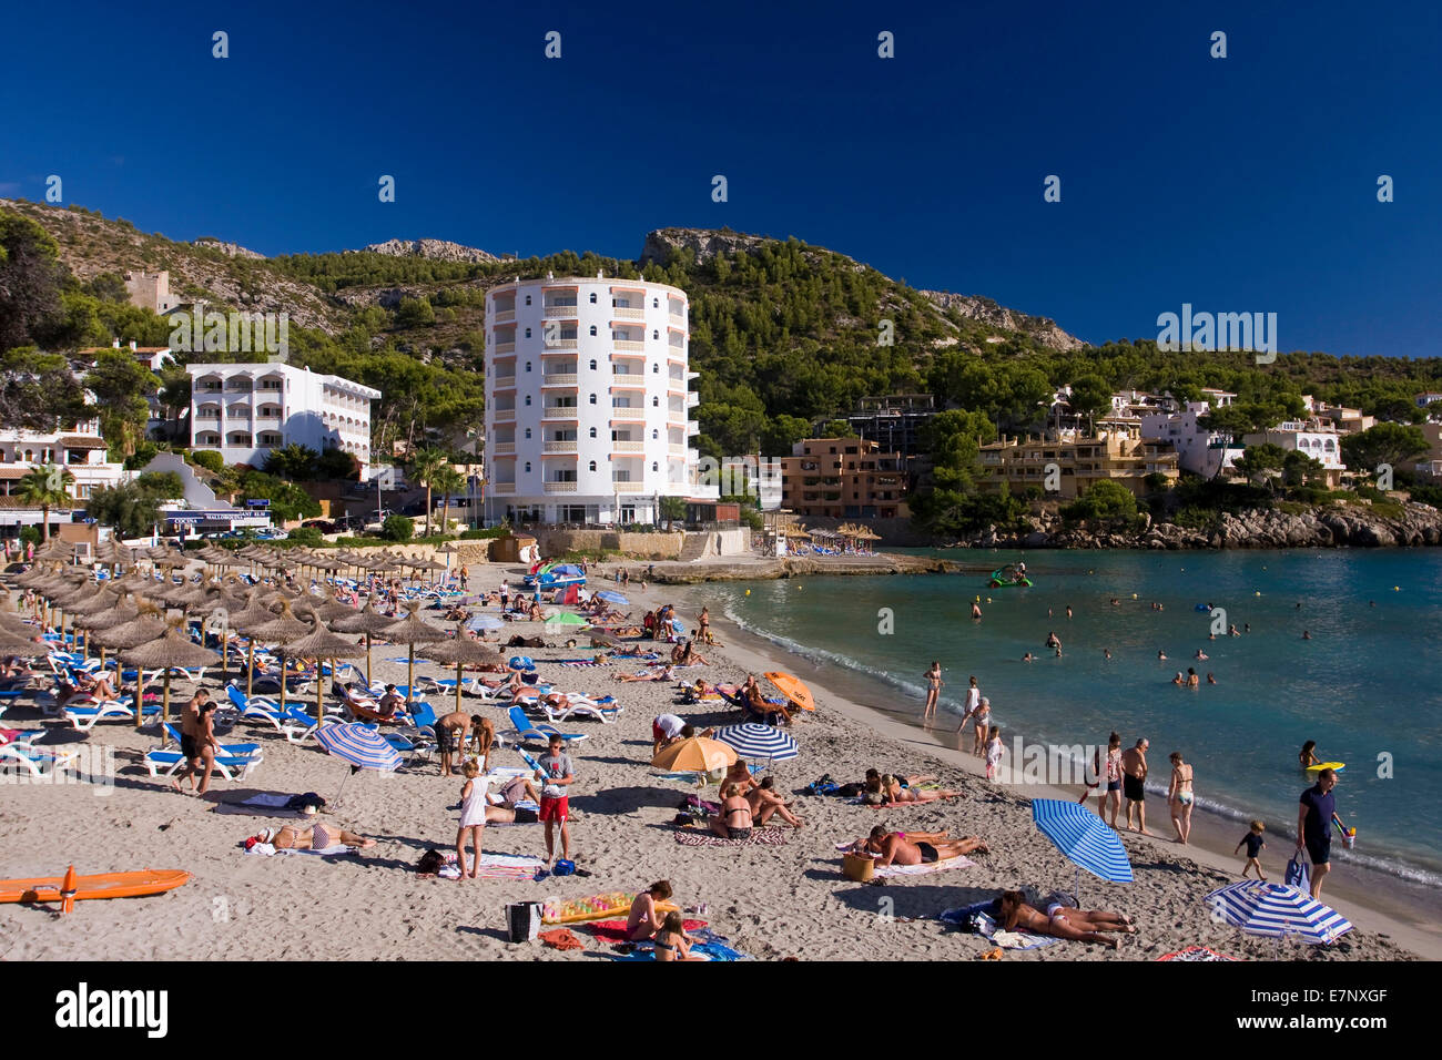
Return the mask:
<svg viewBox="0 0 1442 1060">
<path fill-rule="evenodd" d="M 634 567 L 633 567 L 634 570 Z M 502 577 L 512 583 L 519 570 L 473 565 L 472 591 L 492 588 Z M 593 587 L 600 581 L 593 577 Z M 666 586 L 627 591 L 639 616 L 663 600 L 681 603 L 685 593 Z M 493 611 L 495 609 L 492 609 Z M 695 623 L 695 610 L 681 616 Z M 438 627 L 440 611 L 423 611 Z M 782 792 L 795 792 L 823 773 L 836 780 L 859 780 L 868 767 L 883 772 L 936 773 L 962 798 L 906 809 L 877 811 L 835 798 L 796 796 L 795 812 L 805 828 L 784 831 L 783 845 L 741 848 L 688 847 L 676 842 L 672 819 L 694 786 L 655 776 L 649 766 L 650 723 L 678 712 L 701 725 L 735 721 L 737 711 L 676 705 L 671 684 L 622 684 L 619 672 L 640 666 L 611 661 L 594 668 L 561 666 L 558 659 L 593 655 L 551 640 L 547 649 L 525 649 L 541 671 L 564 691 L 616 695 L 624 712 L 614 724 L 572 720 L 559 727 L 590 738 L 571 753 L 577 782 L 571 789 L 572 857 L 588 877 L 534 880 L 474 880 L 457 883 L 421 878 L 417 858 L 428 848 L 454 845 L 461 777 L 443 777 L 434 763 L 395 774 L 362 773 L 324 754 L 314 743 L 293 746 L 270 727 L 238 724 L 222 741 L 254 740 L 264 763 L 245 782 L 216 779 L 205 798 L 176 795 L 164 780 L 153 780 L 140 764 L 153 747 L 153 734 L 123 723 L 102 723 L 76 734 L 56 720 L 49 744 L 87 743 L 114 747 L 114 783 L 3 785 L 7 812 L 0 818 L 0 875 L 58 875 L 68 864 L 79 873 L 125 871 L 143 867 L 182 868 L 193 880 L 169 894 L 81 903 L 58 917 L 43 906 L 0 906 L 0 958 L 46 959 L 225 959 L 320 960 L 346 959 L 597 959 L 611 950 L 577 929 L 584 950 L 559 952 L 541 943 L 506 942 L 505 907 L 522 900 L 575 898 L 604 891 L 637 891 L 652 880 L 671 880 L 682 907 L 704 903 L 701 916 L 730 945 L 757 959 L 972 959 L 988 948 L 981 937 L 950 930 L 936 920 L 946 909 L 992 898 L 1004 888 L 1031 891 L 1034 904 L 1053 891 L 1069 893 L 1074 870 L 1031 821 L 1030 798 L 1076 799 L 1077 792 L 1038 787 L 1008 789 L 981 776 L 979 760 L 895 717 L 870 710 L 836 694 L 825 673 L 802 666 L 754 637 L 714 620 L 720 649 L 707 649 L 712 665 L 682 673 L 712 682 L 741 681 L 769 669 L 796 672 L 816 695 L 818 711 L 797 723 L 793 736 L 800 756 L 774 767 Z M 529 623 L 512 632 L 541 633 Z M 404 649 L 375 652 L 376 676 L 404 682 L 405 663 L 392 659 Z M 418 663 L 418 672 L 447 676 L 446 668 Z M 218 673 L 206 685 L 219 686 Z M 228 676 L 234 676 L 234 672 Z M 839 684 L 839 682 L 838 682 Z M 179 697 L 189 694 L 177 682 Z M 314 702 L 313 694 L 310 702 Z M 437 712 L 453 699 L 431 695 Z M 467 698 L 464 708 L 490 717 L 497 731 L 509 724 L 505 708 Z M 40 718 L 25 701 L 0 724 L 32 728 Z M 532 748 L 534 750 L 534 748 Z M 493 757 L 497 766 L 522 766 L 509 748 Z M 343 787 L 343 790 L 342 790 Z M 264 816 L 216 812 L 218 800 L 234 802 L 254 792 L 319 792 L 329 805 L 323 819 L 372 836 L 376 847 L 356 857 L 255 857 L 242 851 L 245 836 L 261 826 L 284 823 Z M 339 793 L 339 795 L 337 795 Z M 707 792 L 715 798 L 715 786 Z M 1165 808 L 1154 829 L 1169 832 Z M 836 844 L 862 836 L 872 825 L 904 831 L 949 829 L 953 836 L 978 835 L 991 852 L 975 864 L 930 875 L 888 880 L 884 887 L 858 884 L 841 874 Z M 487 828 L 490 854 L 544 855 L 544 826 Z M 1309 948 L 1240 935 L 1216 923 L 1201 898 L 1234 881 L 1242 860 L 1231 858 L 1236 838 L 1206 825 L 1198 815 L 1194 844 L 1185 851 L 1165 839 L 1123 832 L 1135 881 L 1109 884 L 1082 878 L 1084 909 L 1115 909 L 1131 914 L 1138 933 L 1119 936 L 1119 952 L 1080 942 L 1057 942 L 1032 950 L 1008 950 L 1008 960 L 1152 960 L 1187 946 L 1210 946 L 1239 959 L 1384 960 L 1436 959 L 1442 937 L 1413 904 L 1361 893 L 1364 883 L 1343 873 L 1328 881 L 1325 898 L 1353 920 L 1355 930 L 1341 945 Z M 1270 849 L 1273 860 L 1278 851 Z M 1270 867 L 1270 865 L 1269 865 Z M 1279 864 L 1273 878 L 1279 875 Z M 1374 891 L 1376 888 L 1370 888 Z M 1371 898 L 1367 901 L 1366 898 Z"/>
</svg>

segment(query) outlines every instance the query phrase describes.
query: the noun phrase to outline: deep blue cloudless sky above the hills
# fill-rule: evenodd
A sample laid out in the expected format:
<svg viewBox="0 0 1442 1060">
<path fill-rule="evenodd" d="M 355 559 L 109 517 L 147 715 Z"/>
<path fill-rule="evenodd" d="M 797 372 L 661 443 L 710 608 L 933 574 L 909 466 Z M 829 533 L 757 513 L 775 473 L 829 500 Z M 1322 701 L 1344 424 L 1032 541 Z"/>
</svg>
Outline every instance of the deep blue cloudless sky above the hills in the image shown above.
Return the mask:
<svg viewBox="0 0 1442 1060">
<path fill-rule="evenodd" d="M 0 195 L 56 173 L 174 239 L 633 258 L 730 225 L 1094 342 L 1190 301 L 1442 353 L 1430 3 L 25 3 L 3 35 Z"/>
</svg>

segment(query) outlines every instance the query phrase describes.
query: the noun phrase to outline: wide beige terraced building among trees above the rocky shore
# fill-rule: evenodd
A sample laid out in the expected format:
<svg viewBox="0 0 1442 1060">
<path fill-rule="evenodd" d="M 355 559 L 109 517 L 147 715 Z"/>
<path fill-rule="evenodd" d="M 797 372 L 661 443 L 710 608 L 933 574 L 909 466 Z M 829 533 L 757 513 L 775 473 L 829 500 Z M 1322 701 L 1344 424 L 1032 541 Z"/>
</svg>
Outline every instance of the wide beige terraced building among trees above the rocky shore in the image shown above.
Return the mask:
<svg viewBox="0 0 1442 1060">
<path fill-rule="evenodd" d="M 1171 443 L 1142 438 L 1132 427 L 1112 424 L 1086 438 L 1012 438 L 1002 437 L 982 446 L 983 489 L 1001 489 L 1005 482 L 1012 493 L 1035 486 L 1045 495 L 1048 477 L 1056 472 L 1054 498 L 1074 500 L 1093 483 L 1110 479 L 1136 496 L 1146 493 L 1146 476 L 1164 474 L 1168 482 L 1180 477 L 1177 451 Z"/>
</svg>

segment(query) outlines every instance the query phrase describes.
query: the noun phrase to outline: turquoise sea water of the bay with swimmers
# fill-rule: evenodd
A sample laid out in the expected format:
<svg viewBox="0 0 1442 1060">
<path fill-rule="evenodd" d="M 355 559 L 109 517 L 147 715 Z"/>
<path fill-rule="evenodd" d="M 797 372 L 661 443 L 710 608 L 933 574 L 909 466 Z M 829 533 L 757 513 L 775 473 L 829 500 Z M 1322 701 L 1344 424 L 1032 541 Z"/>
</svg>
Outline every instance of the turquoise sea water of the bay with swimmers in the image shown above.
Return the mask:
<svg viewBox="0 0 1442 1060">
<path fill-rule="evenodd" d="M 1324 760 L 1347 763 L 1338 808 L 1358 844 L 1345 854 L 1334 844 L 1338 858 L 1442 884 L 1442 551 L 930 555 L 978 573 L 721 583 L 689 601 L 813 662 L 880 679 L 890 692 L 870 705 L 919 724 L 921 675 L 937 659 L 943 710 L 959 708 L 976 675 L 1008 748 L 1018 734 L 1103 746 L 1112 730 L 1123 746 L 1146 736 L 1152 786 L 1165 790 L 1167 756 L 1180 750 L 1203 808 L 1263 818 L 1273 835 L 1295 835 L 1306 786 L 1296 753 L 1315 740 Z M 986 588 L 981 568 L 1018 560 L 1032 588 Z M 983 617 L 973 622 L 978 596 Z M 1213 617 L 1198 604 L 1252 632 L 1210 640 Z M 883 609 L 891 633 L 880 632 Z M 1044 645 L 1050 630 L 1060 659 Z M 1195 661 L 1198 649 L 1210 659 Z M 1027 652 L 1037 661 L 1022 662 Z M 1188 666 L 1217 684 L 1172 685 Z M 1169 834 L 1164 806 L 1151 811 L 1154 831 Z"/>
</svg>

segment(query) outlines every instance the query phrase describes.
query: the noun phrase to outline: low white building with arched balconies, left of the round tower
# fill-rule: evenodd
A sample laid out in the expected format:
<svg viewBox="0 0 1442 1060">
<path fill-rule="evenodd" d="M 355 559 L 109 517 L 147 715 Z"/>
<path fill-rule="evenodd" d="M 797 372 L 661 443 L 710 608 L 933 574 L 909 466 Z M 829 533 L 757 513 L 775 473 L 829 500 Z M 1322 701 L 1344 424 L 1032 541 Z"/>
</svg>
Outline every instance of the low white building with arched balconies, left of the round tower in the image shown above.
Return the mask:
<svg viewBox="0 0 1442 1060">
<path fill-rule="evenodd" d="M 284 363 L 187 365 L 190 447 L 262 467 L 277 449 L 342 449 L 371 463 L 371 402 L 381 391 Z"/>
</svg>

